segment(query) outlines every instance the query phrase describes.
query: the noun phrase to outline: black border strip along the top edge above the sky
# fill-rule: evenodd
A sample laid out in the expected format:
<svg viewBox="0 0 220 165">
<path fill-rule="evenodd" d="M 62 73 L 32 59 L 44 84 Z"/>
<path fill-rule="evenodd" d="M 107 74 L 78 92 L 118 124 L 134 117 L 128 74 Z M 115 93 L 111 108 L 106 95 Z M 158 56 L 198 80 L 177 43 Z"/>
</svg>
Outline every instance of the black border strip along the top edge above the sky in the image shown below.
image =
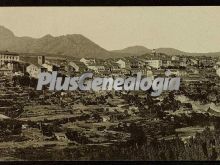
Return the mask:
<svg viewBox="0 0 220 165">
<path fill-rule="evenodd" d="M 219 0 L 0 0 L 0 6 L 216 6 Z"/>
</svg>

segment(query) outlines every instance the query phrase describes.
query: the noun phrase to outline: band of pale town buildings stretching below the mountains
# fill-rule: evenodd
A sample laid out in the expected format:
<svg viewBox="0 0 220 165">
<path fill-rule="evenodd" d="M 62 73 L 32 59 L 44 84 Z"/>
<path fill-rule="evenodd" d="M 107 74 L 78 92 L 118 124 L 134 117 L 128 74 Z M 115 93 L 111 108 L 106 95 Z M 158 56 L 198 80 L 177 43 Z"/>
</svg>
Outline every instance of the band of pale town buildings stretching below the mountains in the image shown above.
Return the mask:
<svg viewBox="0 0 220 165">
<path fill-rule="evenodd" d="M 161 53 L 146 54 L 139 57 L 123 57 L 110 59 L 67 59 L 52 58 L 43 55 L 20 57 L 17 53 L 0 52 L 0 74 L 24 74 L 38 78 L 42 71 L 59 71 L 63 75 L 76 75 L 92 71 L 98 75 L 134 75 L 142 72 L 146 76 L 163 75 L 169 69 L 173 75 L 181 77 L 198 76 L 201 69 L 214 68 L 220 75 L 218 58 L 168 56 Z M 193 75 L 193 76 L 192 76 Z M 191 79 L 191 78 L 190 78 Z"/>
</svg>

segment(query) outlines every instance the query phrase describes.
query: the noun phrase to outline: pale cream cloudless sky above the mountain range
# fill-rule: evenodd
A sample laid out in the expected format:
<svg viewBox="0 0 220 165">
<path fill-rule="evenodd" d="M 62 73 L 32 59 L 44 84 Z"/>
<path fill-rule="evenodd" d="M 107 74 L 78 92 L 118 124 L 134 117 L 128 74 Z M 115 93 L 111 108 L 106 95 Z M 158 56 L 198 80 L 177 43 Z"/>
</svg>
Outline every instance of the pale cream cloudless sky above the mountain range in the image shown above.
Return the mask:
<svg viewBox="0 0 220 165">
<path fill-rule="evenodd" d="M 16 36 L 82 34 L 107 50 L 220 51 L 220 7 L 0 7 Z"/>
</svg>

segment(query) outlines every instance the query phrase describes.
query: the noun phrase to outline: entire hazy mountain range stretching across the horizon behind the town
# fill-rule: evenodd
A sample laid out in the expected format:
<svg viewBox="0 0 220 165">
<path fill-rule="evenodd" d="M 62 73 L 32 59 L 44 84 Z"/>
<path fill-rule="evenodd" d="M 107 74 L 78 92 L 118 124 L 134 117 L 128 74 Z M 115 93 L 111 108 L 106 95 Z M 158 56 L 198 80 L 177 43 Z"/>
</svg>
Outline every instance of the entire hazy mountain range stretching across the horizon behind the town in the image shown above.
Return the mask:
<svg viewBox="0 0 220 165">
<path fill-rule="evenodd" d="M 17 37 L 14 33 L 0 26 L 0 50 L 18 53 L 42 53 L 56 56 L 71 56 L 77 58 L 114 58 L 126 56 L 139 56 L 152 52 L 144 46 L 131 46 L 122 50 L 109 51 L 81 34 L 68 34 L 58 37 L 45 35 L 41 38 Z M 188 53 L 173 48 L 158 48 L 156 52 L 167 55 L 207 55 L 220 56 L 214 53 Z"/>
</svg>

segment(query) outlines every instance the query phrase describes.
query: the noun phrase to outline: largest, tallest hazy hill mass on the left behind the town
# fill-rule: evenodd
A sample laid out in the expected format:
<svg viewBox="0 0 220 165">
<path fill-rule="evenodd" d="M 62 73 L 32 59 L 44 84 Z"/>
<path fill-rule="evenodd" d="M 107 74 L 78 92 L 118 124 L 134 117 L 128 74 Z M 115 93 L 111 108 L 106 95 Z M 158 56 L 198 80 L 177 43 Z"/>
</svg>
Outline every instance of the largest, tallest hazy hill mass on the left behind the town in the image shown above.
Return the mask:
<svg viewBox="0 0 220 165">
<path fill-rule="evenodd" d="M 110 58 L 130 55 L 107 51 L 81 34 L 58 37 L 45 35 L 42 38 L 17 37 L 3 26 L 0 26 L 0 50 L 78 58 Z"/>
</svg>

